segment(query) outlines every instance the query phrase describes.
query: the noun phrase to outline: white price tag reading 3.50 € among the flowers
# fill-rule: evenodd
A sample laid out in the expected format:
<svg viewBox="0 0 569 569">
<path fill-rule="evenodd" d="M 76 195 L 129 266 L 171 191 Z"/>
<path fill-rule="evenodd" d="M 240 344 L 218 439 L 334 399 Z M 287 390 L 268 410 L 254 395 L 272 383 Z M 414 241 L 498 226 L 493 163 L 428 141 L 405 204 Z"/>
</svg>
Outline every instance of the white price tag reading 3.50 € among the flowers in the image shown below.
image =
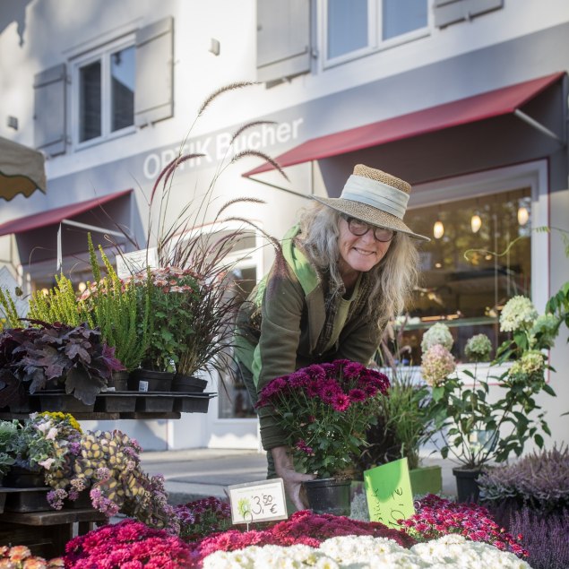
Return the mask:
<svg viewBox="0 0 569 569">
<path fill-rule="evenodd" d="M 269 522 L 289 517 L 282 478 L 236 484 L 229 486 L 228 491 L 233 523 Z"/>
</svg>

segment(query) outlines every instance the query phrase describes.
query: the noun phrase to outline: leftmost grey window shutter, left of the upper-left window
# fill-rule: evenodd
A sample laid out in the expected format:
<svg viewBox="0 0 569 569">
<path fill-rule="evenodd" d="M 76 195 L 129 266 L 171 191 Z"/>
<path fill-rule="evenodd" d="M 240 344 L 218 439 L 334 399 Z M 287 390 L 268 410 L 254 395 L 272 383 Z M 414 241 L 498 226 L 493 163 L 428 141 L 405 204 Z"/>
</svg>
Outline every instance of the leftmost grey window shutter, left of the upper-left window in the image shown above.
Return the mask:
<svg viewBox="0 0 569 569">
<path fill-rule="evenodd" d="M 47 156 L 65 153 L 65 64 L 34 77 L 34 144 Z"/>
</svg>

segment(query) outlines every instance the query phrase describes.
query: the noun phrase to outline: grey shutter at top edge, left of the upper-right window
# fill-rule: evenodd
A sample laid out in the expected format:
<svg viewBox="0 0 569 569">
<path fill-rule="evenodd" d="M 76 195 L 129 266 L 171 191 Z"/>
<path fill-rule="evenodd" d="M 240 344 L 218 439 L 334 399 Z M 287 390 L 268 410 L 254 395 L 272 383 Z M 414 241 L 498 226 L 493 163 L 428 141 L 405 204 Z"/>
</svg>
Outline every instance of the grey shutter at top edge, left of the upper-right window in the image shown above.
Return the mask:
<svg viewBox="0 0 569 569">
<path fill-rule="evenodd" d="M 310 71 L 310 0 L 257 0 L 257 80 Z"/>
</svg>

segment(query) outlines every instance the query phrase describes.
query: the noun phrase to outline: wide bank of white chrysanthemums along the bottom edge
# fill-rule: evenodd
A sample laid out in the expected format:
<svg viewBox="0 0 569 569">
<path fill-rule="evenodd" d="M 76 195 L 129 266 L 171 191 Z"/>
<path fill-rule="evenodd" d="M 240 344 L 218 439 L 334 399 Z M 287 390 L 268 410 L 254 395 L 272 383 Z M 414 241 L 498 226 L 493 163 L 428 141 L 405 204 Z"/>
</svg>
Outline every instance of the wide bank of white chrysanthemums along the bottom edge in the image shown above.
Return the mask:
<svg viewBox="0 0 569 569">
<path fill-rule="evenodd" d="M 326 539 L 320 548 L 303 545 L 251 546 L 238 551 L 216 551 L 203 560 L 203 569 L 531 569 L 512 553 L 494 546 L 447 535 L 410 549 L 392 539 L 346 536 Z"/>
</svg>

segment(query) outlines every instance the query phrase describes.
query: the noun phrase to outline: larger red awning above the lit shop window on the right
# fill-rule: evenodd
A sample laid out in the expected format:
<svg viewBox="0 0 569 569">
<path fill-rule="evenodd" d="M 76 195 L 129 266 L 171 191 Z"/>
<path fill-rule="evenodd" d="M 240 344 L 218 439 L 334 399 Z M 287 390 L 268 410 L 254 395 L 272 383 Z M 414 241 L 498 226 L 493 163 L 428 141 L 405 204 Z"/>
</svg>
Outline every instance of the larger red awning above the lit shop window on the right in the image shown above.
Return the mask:
<svg viewBox="0 0 569 569">
<path fill-rule="evenodd" d="M 387 142 L 394 142 L 419 134 L 433 133 L 466 125 L 495 116 L 513 114 L 520 107 L 539 95 L 565 73 L 553 73 L 539 79 L 516 83 L 509 87 L 488 91 L 466 99 L 455 100 L 436 107 L 424 108 L 408 115 L 395 116 L 370 125 L 358 126 L 341 133 L 327 134 L 303 142 L 280 154 L 275 160 L 281 167 L 294 166 L 310 160 L 318 160 L 359 151 Z M 269 162 L 249 170 L 244 177 L 274 169 Z"/>
</svg>

